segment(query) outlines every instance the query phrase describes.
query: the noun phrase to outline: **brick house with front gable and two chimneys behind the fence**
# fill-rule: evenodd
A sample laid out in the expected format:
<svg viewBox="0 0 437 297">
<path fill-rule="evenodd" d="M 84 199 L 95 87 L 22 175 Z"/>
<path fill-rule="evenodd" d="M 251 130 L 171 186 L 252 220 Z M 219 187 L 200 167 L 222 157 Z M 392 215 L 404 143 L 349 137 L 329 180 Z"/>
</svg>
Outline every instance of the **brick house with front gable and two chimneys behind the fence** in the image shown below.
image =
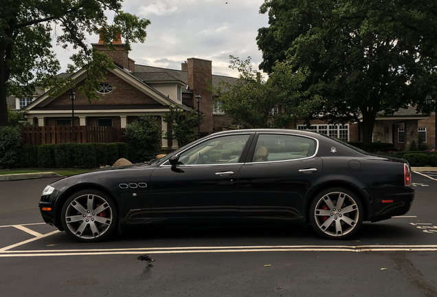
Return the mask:
<svg viewBox="0 0 437 297">
<path fill-rule="evenodd" d="M 106 52 L 116 66 L 115 69 L 108 69 L 106 80 L 100 84 L 98 96 L 102 100 L 89 104 L 87 98 L 77 90 L 85 83 L 85 70 L 70 76 L 76 85 L 74 125 L 124 128 L 140 115 L 155 115 L 163 131 L 167 131 L 167 123 L 162 117 L 169 111 L 169 105 L 177 105 L 184 110 L 197 108 L 194 99 L 197 94 L 201 96 L 202 135 L 221 131 L 222 126 L 230 124 L 231 120 L 223 114 L 220 106 L 213 104 L 208 85 L 212 82 L 218 86 L 223 80 L 233 83 L 237 78 L 213 75 L 212 61 L 200 58 L 188 58 L 182 63 L 181 70 L 135 65 L 135 61 L 124 51 L 121 38 L 118 40 L 118 43 L 114 43 L 115 52 L 109 51 L 101 41 L 93 44 L 93 47 Z M 27 102 L 21 110 L 27 111 L 27 120 L 37 126 L 69 126 L 72 113 L 70 91 L 65 89 L 65 93 L 56 98 L 49 97 L 45 92 L 32 102 Z M 164 139 L 162 144 L 172 146 Z"/>
</svg>

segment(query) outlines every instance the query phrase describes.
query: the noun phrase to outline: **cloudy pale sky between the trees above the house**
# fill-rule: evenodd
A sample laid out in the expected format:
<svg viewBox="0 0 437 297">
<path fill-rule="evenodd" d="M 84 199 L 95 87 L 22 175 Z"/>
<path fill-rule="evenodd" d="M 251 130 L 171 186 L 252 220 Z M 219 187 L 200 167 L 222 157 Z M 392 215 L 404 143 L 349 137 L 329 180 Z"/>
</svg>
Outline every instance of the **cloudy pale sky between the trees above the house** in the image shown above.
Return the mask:
<svg viewBox="0 0 437 297">
<path fill-rule="evenodd" d="M 144 43 L 133 43 L 129 58 L 136 64 L 181 69 L 187 58 L 212 61 L 212 73 L 238 76 L 229 69 L 229 55 L 251 57 L 254 69 L 262 62 L 256 45 L 258 29 L 268 27 L 267 14 L 260 14 L 264 0 L 124 0 L 122 10 L 149 19 Z M 108 14 L 109 21 L 113 14 Z M 122 36 L 123 40 L 123 36 Z M 98 36 L 87 38 L 97 43 Z M 54 47 L 65 72 L 74 52 Z"/>
</svg>

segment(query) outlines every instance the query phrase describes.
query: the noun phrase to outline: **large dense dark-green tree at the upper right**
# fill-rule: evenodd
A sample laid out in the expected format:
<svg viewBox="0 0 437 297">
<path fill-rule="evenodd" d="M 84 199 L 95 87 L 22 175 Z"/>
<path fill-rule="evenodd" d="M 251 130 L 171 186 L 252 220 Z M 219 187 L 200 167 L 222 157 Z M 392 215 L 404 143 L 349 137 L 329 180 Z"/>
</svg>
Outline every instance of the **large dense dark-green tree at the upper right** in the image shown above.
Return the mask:
<svg viewBox="0 0 437 297">
<path fill-rule="evenodd" d="M 260 12 L 270 24 L 258 31 L 260 67 L 306 71 L 289 91 L 313 107 L 307 121 L 357 122 L 368 143 L 377 114 L 436 98 L 436 1 L 267 0 Z"/>
</svg>

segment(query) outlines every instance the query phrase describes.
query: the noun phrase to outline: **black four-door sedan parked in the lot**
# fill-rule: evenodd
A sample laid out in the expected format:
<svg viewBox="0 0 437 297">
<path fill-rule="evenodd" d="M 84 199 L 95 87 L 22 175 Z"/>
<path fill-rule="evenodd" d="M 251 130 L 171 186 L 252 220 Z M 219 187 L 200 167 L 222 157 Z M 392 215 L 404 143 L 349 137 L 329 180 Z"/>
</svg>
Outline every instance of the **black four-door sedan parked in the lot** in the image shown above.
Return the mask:
<svg viewBox="0 0 437 297">
<path fill-rule="evenodd" d="M 166 157 L 60 179 L 43 191 L 46 223 L 78 241 L 139 226 L 311 224 L 346 239 L 363 221 L 405 214 L 409 164 L 297 130 L 215 133 Z"/>
</svg>

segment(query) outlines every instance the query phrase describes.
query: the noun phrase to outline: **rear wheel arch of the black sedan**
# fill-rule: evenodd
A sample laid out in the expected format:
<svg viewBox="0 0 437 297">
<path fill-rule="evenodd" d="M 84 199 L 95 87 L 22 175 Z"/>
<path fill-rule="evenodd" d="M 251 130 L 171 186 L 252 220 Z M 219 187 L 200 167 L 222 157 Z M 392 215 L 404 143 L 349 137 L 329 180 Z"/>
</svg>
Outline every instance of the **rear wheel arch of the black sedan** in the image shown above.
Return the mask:
<svg viewBox="0 0 437 297">
<path fill-rule="evenodd" d="M 305 214 L 305 222 L 309 223 L 309 210 L 311 206 L 311 202 L 320 194 L 320 192 L 328 189 L 328 188 L 345 188 L 346 190 L 350 190 L 355 195 L 357 195 L 359 201 L 361 202 L 364 210 L 363 221 L 368 221 L 370 214 L 370 197 L 368 196 L 368 191 L 360 190 L 355 184 L 351 184 L 344 180 L 336 180 L 336 181 L 327 181 L 323 184 L 319 184 L 315 186 L 309 194 L 307 195 L 304 202 L 304 214 Z"/>
</svg>

